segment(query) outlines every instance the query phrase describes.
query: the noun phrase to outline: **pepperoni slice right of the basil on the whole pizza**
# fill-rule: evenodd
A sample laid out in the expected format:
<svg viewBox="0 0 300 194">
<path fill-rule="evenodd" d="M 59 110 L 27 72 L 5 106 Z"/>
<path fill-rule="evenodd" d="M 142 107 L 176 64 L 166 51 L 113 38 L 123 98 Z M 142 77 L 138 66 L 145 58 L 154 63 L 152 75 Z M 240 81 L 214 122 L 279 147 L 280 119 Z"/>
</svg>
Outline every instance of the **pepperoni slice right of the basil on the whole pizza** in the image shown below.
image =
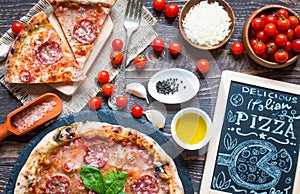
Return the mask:
<svg viewBox="0 0 300 194">
<path fill-rule="evenodd" d="M 134 193 L 139 194 L 155 194 L 159 191 L 157 179 L 150 175 L 143 175 L 138 178 L 131 185 L 131 189 Z"/>
</svg>

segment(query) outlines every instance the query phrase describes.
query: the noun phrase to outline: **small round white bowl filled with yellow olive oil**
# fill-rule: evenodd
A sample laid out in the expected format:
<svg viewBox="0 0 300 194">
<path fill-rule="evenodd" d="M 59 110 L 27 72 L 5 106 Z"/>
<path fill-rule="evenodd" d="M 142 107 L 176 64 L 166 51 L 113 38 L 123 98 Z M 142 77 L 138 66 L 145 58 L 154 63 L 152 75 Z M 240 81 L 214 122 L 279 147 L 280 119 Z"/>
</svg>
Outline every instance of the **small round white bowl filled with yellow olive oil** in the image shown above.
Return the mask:
<svg viewBox="0 0 300 194">
<path fill-rule="evenodd" d="M 174 141 L 187 150 L 203 148 L 211 137 L 211 119 L 201 109 L 188 107 L 175 114 L 171 122 Z"/>
</svg>

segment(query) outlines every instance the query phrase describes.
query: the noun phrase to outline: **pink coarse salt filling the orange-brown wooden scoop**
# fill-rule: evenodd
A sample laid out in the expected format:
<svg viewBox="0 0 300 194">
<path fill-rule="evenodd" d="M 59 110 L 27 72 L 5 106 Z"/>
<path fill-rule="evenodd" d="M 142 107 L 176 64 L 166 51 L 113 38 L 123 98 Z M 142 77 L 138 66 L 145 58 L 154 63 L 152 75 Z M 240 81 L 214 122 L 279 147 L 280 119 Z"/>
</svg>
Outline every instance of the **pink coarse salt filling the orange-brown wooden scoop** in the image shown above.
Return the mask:
<svg viewBox="0 0 300 194">
<path fill-rule="evenodd" d="M 12 118 L 12 125 L 20 132 L 28 129 L 52 111 L 55 105 L 55 101 L 50 101 L 25 109 Z"/>
</svg>

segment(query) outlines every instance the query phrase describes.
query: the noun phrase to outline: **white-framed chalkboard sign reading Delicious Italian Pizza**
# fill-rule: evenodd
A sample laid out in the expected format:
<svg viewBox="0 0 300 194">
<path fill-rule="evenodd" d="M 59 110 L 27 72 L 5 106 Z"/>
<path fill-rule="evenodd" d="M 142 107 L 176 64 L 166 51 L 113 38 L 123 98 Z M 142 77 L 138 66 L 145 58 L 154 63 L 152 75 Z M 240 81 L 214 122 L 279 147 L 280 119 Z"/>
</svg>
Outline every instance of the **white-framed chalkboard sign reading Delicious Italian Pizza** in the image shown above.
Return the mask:
<svg viewBox="0 0 300 194">
<path fill-rule="evenodd" d="M 300 86 L 225 71 L 212 129 L 200 193 L 300 193 Z"/>
</svg>

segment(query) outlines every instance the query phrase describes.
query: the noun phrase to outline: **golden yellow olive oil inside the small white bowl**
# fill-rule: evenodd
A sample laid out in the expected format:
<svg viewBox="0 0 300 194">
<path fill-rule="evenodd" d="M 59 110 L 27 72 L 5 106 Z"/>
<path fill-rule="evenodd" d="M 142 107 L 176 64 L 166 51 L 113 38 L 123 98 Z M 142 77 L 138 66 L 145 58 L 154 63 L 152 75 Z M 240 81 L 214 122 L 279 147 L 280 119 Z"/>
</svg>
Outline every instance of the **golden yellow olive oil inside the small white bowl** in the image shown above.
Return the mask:
<svg viewBox="0 0 300 194">
<path fill-rule="evenodd" d="M 186 144 L 197 144 L 203 141 L 207 132 L 205 119 L 197 113 L 186 113 L 180 116 L 175 125 L 178 138 Z"/>
</svg>

